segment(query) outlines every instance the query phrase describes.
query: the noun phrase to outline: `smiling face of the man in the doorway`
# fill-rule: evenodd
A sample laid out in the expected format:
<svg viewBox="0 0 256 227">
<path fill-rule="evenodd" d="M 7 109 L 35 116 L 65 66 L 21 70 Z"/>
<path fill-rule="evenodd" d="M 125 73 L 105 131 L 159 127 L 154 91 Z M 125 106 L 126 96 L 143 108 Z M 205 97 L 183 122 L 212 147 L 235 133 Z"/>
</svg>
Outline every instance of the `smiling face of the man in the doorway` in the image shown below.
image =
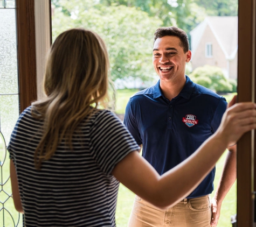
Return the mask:
<svg viewBox="0 0 256 227">
<path fill-rule="evenodd" d="M 175 36 L 157 38 L 153 47 L 153 65 L 160 80 L 174 81 L 184 78 L 186 62 L 191 51 L 184 53 L 180 40 Z"/>
</svg>

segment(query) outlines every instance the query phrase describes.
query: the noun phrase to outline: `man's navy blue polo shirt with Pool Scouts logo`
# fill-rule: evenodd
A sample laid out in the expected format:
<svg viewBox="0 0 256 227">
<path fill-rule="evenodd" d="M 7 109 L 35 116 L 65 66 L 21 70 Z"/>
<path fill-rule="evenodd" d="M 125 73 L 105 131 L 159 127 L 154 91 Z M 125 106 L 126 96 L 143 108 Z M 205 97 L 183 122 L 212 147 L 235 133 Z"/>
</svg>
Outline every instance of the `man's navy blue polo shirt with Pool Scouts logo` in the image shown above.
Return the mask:
<svg viewBox="0 0 256 227">
<path fill-rule="evenodd" d="M 139 91 L 127 104 L 124 124 L 143 157 L 162 175 L 188 158 L 217 129 L 226 110 L 226 100 L 193 83 L 186 76 L 181 93 L 169 101 L 155 86 Z M 211 194 L 215 168 L 188 196 Z"/>
</svg>

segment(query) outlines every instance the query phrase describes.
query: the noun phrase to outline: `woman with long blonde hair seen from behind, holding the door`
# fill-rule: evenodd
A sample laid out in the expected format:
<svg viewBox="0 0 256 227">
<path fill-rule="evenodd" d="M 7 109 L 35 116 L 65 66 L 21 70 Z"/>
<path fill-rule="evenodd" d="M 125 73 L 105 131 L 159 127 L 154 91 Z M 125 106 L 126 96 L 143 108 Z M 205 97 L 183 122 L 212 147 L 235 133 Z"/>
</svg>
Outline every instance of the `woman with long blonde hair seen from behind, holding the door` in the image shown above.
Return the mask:
<svg viewBox="0 0 256 227">
<path fill-rule="evenodd" d="M 115 226 L 119 182 L 160 208 L 174 205 L 256 127 L 255 104 L 234 105 L 211 138 L 160 176 L 120 120 L 98 109 L 107 104 L 108 69 L 106 46 L 92 31 L 68 30 L 52 45 L 46 98 L 23 111 L 8 146 L 13 200 L 26 226 Z"/>
</svg>

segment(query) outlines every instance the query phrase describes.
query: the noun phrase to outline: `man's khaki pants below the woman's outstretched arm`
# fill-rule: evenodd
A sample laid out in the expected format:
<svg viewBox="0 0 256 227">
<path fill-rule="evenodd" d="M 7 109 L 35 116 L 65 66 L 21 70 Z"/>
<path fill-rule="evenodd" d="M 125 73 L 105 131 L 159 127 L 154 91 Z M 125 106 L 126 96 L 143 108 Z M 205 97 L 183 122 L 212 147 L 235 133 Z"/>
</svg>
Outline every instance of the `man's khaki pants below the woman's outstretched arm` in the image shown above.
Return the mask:
<svg viewBox="0 0 256 227">
<path fill-rule="evenodd" d="M 135 196 L 128 227 L 210 227 L 210 196 L 188 198 L 161 210 Z"/>
</svg>

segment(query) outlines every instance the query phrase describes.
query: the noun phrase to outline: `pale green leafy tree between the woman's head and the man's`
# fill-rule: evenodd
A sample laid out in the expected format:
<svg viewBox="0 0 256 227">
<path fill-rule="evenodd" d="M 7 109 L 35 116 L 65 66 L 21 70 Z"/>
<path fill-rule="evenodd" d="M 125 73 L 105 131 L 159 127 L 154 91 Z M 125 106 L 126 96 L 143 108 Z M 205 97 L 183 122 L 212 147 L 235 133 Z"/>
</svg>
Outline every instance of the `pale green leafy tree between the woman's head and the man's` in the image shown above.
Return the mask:
<svg viewBox="0 0 256 227">
<path fill-rule="evenodd" d="M 112 79 L 140 77 L 150 81 L 154 75 L 151 63 L 153 36 L 161 20 L 149 17 L 146 12 L 124 5 L 88 7 L 81 1 L 60 0 L 54 10 L 53 39 L 70 27 L 90 29 L 105 40 L 111 66 Z M 63 13 L 62 5 L 69 9 Z"/>
</svg>

